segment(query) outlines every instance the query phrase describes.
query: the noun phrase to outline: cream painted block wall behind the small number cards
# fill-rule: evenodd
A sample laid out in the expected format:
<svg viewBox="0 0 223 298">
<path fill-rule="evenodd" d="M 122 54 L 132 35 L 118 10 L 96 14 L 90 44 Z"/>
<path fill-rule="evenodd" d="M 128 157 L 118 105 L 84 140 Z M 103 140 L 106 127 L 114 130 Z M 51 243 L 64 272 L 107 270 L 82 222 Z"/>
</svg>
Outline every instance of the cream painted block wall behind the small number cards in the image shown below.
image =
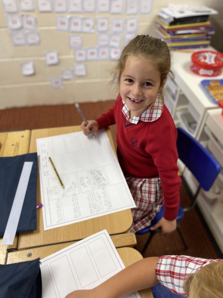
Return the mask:
<svg viewBox="0 0 223 298">
<path fill-rule="evenodd" d="M 53 2 L 53 1 L 52 1 Z M 125 2 L 125 1 L 124 1 Z M 211 18 L 216 26 L 216 35 L 213 36 L 212 45 L 223 52 L 223 1 L 219 0 L 154 0 L 153 9 L 150 14 L 120 15 L 110 13 L 81 13 L 83 17 L 109 17 L 112 18 L 138 17 L 137 34 L 150 34 L 156 36 L 154 21 L 161 7 L 173 4 L 205 4 L 219 11 L 219 15 Z M 36 1 L 34 0 L 35 11 L 19 11 L 18 14 L 35 15 L 37 18 L 37 30 L 40 33 L 41 44 L 39 46 L 13 46 L 10 30 L 7 27 L 6 13 L 0 4 L 0 109 L 15 106 L 51 105 L 73 102 L 88 102 L 107 100 L 115 98 L 117 91 L 110 86 L 112 69 L 117 61 L 86 61 L 87 76 L 75 77 L 72 81 L 63 81 L 63 89 L 52 89 L 50 78 L 61 77 L 63 68 L 72 68 L 75 63 L 74 50 L 69 47 L 69 35 L 75 33 L 56 30 L 56 13 L 39 13 Z M 53 4 L 53 3 L 52 3 Z M 19 7 L 19 6 L 18 6 Z M 53 7 L 53 5 L 52 5 Z M 124 10 L 125 11 L 125 10 Z M 57 13 L 61 15 L 62 13 Z M 64 13 L 74 16 L 77 13 Z M 95 21 L 96 23 L 96 21 Z M 109 32 L 111 33 L 111 32 Z M 79 33 L 77 33 L 79 34 Z M 97 46 L 97 32 L 82 34 L 83 48 Z M 124 33 L 123 33 L 124 39 Z M 122 41 L 123 47 L 123 41 Z M 58 51 L 59 64 L 47 66 L 45 63 L 46 51 Z M 35 67 L 35 74 L 23 76 L 21 73 L 21 62 L 32 61 Z"/>
</svg>

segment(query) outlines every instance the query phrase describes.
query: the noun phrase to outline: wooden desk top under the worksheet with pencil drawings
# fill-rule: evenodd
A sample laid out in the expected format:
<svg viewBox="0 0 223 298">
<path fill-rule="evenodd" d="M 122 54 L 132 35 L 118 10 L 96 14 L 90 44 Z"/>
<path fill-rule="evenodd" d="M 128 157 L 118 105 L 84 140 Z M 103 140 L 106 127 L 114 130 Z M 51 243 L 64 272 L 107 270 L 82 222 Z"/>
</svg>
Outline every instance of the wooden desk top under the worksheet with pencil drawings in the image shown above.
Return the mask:
<svg viewBox="0 0 223 298">
<path fill-rule="evenodd" d="M 55 136 L 59 134 L 67 134 L 80 131 L 80 126 L 70 126 L 61 128 L 37 129 L 31 132 L 29 153 L 36 152 L 36 139 Z M 112 136 L 107 129 L 107 134 L 114 148 Z M 37 178 L 37 204 L 41 202 L 40 197 L 40 181 L 39 175 Z M 106 229 L 109 235 L 121 234 L 128 232 L 132 224 L 131 210 L 115 212 L 109 215 L 92 218 L 86 221 L 81 221 L 75 224 L 58 227 L 44 231 L 43 229 L 43 213 L 41 209 L 37 210 L 37 230 L 33 232 L 22 233 L 18 238 L 18 249 L 43 246 L 53 243 L 69 242 L 80 240 L 88 237 L 96 232 Z M 128 246 L 125 243 L 123 246 Z"/>
</svg>

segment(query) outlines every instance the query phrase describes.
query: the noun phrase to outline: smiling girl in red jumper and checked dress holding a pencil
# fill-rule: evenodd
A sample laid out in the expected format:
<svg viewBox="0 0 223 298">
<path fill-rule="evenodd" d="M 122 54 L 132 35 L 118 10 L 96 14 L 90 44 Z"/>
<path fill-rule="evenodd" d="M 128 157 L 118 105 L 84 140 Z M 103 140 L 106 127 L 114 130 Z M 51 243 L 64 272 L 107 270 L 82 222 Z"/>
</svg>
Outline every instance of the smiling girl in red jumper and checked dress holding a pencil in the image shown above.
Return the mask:
<svg viewBox="0 0 223 298">
<path fill-rule="evenodd" d="M 151 229 L 176 229 L 181 183 L 177 130 L 162 94 L 169 71 L 167 44 L 149 35 L 136 36 L 115 69 L 120 93 L 114 107 L 87 126 L 81 123 L 85 135 L 89 129 L 96 132 L 117 124 L 118 160 L 136 203 L 130 232 L 149 226 L 163 204 L 164 217 Z"/>
</svg>

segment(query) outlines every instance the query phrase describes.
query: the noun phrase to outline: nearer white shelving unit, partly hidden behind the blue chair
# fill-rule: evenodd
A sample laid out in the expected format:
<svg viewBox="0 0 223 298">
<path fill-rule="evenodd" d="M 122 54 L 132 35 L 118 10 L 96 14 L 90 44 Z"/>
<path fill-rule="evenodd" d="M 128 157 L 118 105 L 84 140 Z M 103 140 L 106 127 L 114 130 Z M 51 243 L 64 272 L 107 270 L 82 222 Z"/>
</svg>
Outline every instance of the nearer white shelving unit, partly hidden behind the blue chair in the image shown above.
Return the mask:
<svg viewBox="0 0 223 298">
<path fill-rule="evenodd" d="M 221 108 L 207 111 L 197 139 L 213 154 L 222 167 L 210 191 L 201 191 L 197 203 L 223 252 L 223 115 Z M 189 170 L 185 172 L 185 179 L 194 192 L 197 183 Z"/>
</svg>

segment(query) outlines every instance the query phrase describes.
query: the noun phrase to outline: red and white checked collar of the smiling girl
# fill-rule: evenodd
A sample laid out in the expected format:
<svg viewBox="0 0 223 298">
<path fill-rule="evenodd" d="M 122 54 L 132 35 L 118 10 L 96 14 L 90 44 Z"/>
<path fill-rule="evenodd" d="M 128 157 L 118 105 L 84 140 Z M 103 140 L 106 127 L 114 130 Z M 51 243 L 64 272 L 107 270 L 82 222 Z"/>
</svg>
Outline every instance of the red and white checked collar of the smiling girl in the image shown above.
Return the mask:
<svg viewBox="0 0 223 298">
<path fill-rule="evenodd" d="M 122 112 L 123 115 L 125 116 L 125 119 L 133 124 L 137 124 L 139 120 L 144 121 L 144 122 L 153 122 L 157 120 L 162 112 L 163 112 L 163 102 L 161 100 L 161 97 L 157 94 L 156 99 L 154 100 L 153 103 L 145 110 L 141 115 L 134 116 L 132 118 L 129 118 L 130 116 L 130 111 L 127 105 L 123 102 L 123 108 Z"/>
</svg>

